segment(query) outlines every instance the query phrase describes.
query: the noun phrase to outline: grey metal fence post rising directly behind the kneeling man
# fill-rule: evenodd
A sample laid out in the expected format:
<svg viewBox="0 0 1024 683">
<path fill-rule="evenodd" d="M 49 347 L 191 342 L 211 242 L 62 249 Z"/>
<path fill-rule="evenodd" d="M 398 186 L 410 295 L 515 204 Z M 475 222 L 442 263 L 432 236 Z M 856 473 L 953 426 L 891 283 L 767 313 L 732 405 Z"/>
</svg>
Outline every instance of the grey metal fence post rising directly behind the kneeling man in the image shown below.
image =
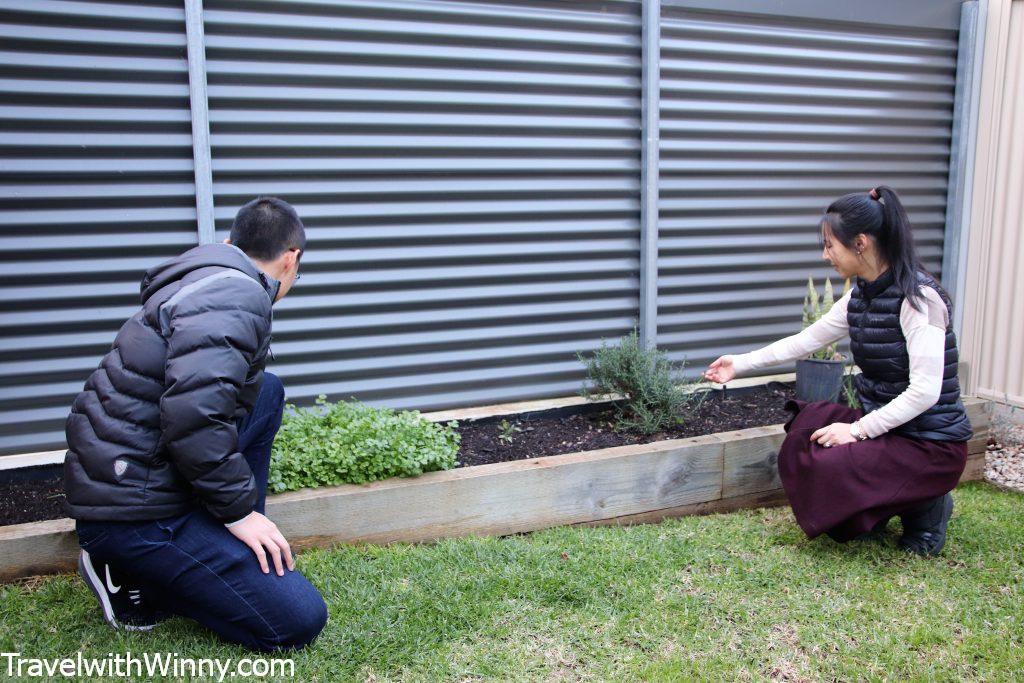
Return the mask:
<svg viewBox="0 0 1024 683">
<path fill-rule="evenodd" d="M 199 243 L 210 244 L 216 238 L 213 222 L 213 169 L 210 159 L 210 105 L 206 89 L 203 0 L 185 0 L 185 35 L 188 49 L 193 160 L 196 174 L 196 218 L 199 223 Z"/>
</svg>

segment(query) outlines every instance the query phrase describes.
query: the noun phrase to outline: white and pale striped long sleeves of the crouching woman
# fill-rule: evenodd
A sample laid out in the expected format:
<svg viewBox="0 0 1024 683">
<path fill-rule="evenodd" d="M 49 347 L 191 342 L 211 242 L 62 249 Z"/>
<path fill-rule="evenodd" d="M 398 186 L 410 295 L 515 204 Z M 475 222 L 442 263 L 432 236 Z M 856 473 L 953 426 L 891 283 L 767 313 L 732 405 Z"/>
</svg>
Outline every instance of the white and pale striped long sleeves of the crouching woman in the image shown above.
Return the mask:
<svg viewBox="0 0 1024 683">
<path fill-rule="evenodd" d="M 942 392 L 949 313 L 934 289 L 923 287 L 921 291 L 924 295 L 922 310 L 904 299 L 899 315 L 900 329 L 906 337 L 906 351 L 910 356 L 910 384 L 889 403 L 860 419 L 861 429 L 871 438 L 909 422 L 935 405 Z M 846 319 L 849 303 L 850 292 L 847 292 L 817 323 L 800 334 L 733 356 L 736 374 L 796 360 L 839 341 L 850 330 Z"/>
</svg>

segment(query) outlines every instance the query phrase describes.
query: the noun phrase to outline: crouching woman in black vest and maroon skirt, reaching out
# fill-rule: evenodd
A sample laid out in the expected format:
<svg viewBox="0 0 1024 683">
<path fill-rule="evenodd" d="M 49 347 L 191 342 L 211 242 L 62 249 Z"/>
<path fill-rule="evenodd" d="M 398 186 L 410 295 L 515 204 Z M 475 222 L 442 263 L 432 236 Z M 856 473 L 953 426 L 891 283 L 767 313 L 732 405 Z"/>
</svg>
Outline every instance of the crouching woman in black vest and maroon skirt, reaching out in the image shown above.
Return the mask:
<svg viewBox="0 0 1024 683">
<path fill-rule="evenodd" d="M 900 547 L 936 555 L 952 514 L 949 492 L 967 464 L 971 423 L 961 401 L 952 304 L 921 265 L 896 193 L 841 197 L 821 220 L 822 257 L 856 285 L 820 321 L 742 355 L 723 355 L 705 377 L 792 361 L 847 334 L 861 375 L 863 410 L 793 400 L 779 477 L 809 538 L 878 537 L 903 522 Z"/>
</svg>

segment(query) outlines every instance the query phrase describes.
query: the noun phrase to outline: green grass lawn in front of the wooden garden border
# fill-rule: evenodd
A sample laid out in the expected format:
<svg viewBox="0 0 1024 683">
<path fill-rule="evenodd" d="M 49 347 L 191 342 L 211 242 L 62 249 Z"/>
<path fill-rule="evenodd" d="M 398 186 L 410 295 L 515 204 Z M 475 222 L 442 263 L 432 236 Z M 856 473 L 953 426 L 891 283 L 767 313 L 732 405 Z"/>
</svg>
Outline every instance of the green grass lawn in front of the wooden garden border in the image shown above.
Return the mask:
<svg viewBox="0 0 1024 683">
<path fill-rule="evenodd" d="M 808 541 L 788 509 L 314 550 L 331 621 L 296 680 L 1021 680 L 1024 496 L 954 494 L 944 554 Z M 243 657 L 173 620 L 111 631 L 75 577 L 0 588 L 0 651 Z M 4 672 L 0 672 L 2 675 Z"/>
</svg>

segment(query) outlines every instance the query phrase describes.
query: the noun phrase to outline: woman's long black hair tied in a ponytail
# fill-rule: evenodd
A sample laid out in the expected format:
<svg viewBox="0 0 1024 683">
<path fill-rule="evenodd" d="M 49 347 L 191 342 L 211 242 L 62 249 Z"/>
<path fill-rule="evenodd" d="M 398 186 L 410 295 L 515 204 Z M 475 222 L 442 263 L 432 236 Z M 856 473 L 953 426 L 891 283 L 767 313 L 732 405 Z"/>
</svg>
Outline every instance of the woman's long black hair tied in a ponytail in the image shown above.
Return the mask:
<svg viewBox="0 0 1024 683">
<path fill-rule="evenodd" d="M 869 193 L 844 195 L 828 205 L 821 225 L 827 226 L 847 249 L 853 249 L 861 232 L 873 238 L 882 259 L 893 271 L 896 286 L 910 305 L 921 310 L 918 271 L 928 271 L 918 258 L 910 219 L 896 190 L 879 185 Z"/>
</svg>

